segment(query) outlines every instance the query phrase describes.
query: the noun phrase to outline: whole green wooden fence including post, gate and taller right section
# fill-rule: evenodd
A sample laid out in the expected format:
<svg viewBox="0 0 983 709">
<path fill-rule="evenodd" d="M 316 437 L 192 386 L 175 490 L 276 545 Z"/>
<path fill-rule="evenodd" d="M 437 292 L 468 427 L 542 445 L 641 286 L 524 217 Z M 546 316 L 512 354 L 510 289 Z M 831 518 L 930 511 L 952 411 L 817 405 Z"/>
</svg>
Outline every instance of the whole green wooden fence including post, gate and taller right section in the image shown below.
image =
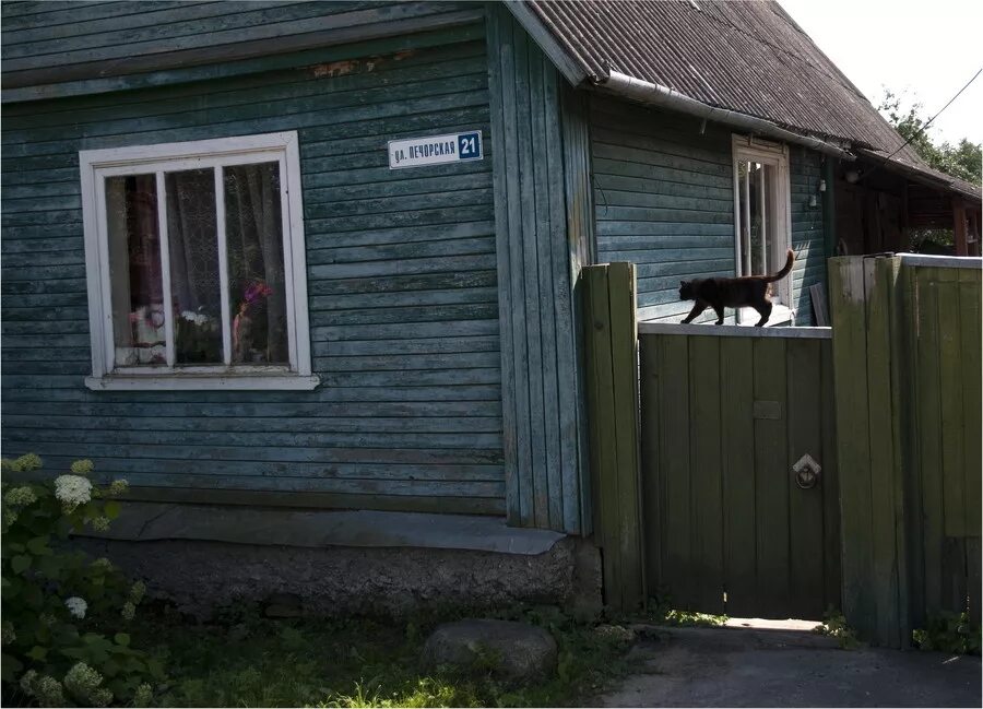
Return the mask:
<svg viewBox="0 0 983 709">
<path fill-rule="evenodd" d="M 775 615 L 819 583 L 832 603 L 839 540 L 842 608 L 864 639 L 905 647 L 944 611 L 979 621 L 981 264 L 831 259 L 831 357 L 827 339 L 642 326 L 640 404 L 633 267 L 585 269 L 607 602 L 636 607 L 668 586 L 677 602 L 720 611 L 723 588 L 731 614 L 760 614 L 763 602 Z M 786 468 L 813 451 L 828 489 L 798 496 Z M 754 571 L 736 571 L 751 554 Z M 803 565 L 817 554 L 821 575 Z"/>
</svg>

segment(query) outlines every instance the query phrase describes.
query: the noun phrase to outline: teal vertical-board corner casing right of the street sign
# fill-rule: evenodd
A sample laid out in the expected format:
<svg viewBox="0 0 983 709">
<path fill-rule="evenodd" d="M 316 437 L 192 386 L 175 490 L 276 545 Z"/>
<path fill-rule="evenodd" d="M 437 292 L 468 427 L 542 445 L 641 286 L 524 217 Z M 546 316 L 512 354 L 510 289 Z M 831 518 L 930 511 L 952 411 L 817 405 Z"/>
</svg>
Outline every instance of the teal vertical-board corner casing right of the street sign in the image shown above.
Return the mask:
<svg viewBox="0 0 983 709">
<path fill-rule="evenodd" d="M 505 8 L 490 9 L 488 46 L 508 519 L 580 533 L 562 80 Z"/>
</svg>

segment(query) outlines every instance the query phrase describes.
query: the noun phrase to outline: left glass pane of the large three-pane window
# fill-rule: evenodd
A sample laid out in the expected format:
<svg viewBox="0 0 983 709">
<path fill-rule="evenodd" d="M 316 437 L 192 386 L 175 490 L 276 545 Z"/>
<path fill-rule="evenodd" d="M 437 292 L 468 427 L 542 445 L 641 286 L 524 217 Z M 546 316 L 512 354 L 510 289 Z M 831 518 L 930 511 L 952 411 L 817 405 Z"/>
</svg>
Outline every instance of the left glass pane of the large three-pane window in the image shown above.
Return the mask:
<svg viewBox="0 0 983 709">
<path fill-rule="evenodd" d="M 164 365 L 164 293 L 154 175 L 106 179 L 114 362 Z"/>
</svg>

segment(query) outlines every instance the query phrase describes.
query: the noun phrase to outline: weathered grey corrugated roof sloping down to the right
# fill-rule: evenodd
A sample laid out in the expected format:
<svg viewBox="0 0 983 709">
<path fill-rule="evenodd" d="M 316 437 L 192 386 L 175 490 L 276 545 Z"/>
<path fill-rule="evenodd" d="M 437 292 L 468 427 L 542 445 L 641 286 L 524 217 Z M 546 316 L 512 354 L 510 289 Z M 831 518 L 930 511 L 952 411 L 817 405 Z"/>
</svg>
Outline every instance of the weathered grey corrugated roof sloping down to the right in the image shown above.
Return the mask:
<svg viewBox="0 0 983 709">
<path fill-rule="evenodd" d="M 619 72 L 794 132 L 850 143 L 956 191 L 980 188 L 929 168 L 772 0 L 525 0 L 597 83 Z M 899 150 L 900 149 L 900 150 Z"/>
</svg>

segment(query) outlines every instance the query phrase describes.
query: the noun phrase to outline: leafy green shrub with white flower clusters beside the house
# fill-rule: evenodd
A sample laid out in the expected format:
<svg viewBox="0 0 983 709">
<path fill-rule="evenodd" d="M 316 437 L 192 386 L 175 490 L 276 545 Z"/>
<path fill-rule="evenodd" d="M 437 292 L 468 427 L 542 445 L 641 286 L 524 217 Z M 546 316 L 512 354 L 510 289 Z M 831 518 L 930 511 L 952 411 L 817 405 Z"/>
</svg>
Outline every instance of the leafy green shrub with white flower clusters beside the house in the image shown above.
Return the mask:
<svg viewBox="0 0 983 709">
<path fill-rule="evenodd" d="M 42 706 L 149 702 L 149 680 L 162 670 L 125 631 L 145 587 L 129 583 L 108 559 L 63 544 L 85 527 L 108 529 L 126 481 L 93 485 L 86 460 L 54 480 L 35 473 L 42 461 L 34 454 L 0 466 L 3 683 L 16 682 Z"/>
</svg>

